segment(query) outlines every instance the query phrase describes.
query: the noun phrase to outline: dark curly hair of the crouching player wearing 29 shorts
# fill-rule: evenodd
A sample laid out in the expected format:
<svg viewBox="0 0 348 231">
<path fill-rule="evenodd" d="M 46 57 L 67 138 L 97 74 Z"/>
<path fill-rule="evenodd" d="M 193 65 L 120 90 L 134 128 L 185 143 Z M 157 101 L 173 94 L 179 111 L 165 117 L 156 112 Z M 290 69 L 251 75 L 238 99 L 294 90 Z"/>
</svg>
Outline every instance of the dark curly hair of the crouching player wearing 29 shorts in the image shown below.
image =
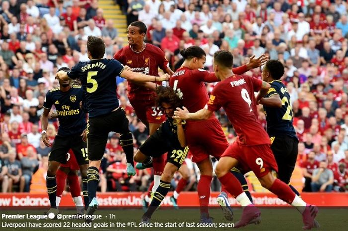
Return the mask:
<svg viewBox="0 0 348 231">
<path fill-rule="evenodd" d="M 171 105 L 174 109 L 177 107 L 182 107 L 182 100 L 171 87 L 159 86 L 156 89 L 156 94 L 157 106 L 162 107 L 162 103 L 167 103 Z"/>
</svg>

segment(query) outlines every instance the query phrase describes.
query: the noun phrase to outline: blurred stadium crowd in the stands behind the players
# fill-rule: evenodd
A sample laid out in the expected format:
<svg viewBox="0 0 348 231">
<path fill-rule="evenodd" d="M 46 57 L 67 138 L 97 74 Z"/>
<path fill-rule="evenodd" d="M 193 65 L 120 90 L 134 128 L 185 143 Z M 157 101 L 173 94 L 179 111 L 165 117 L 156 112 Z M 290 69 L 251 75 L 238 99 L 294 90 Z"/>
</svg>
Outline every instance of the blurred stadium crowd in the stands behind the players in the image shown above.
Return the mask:
<svg viewBox="0 0 348 231">
<path fill-rule="evenodd" d="M 111 3 L 111 1 L 110 1 Z M 285 66 L 282 81 L 291 95 L 299 137 L 298 165 L 304 191 L 348 191 L 348 4 L 342 0 L 116 0 L 127 23 L 148 26 L 146 42 L 159 46 L 173 70 L 179 50 L 201 46 L 205 68 L 213 54 L 229 50 L 234 64 L 267 54 Z M 98 0 L 0 0 L 0 182 L 2 192 L 40 191 L 50 148 L 41 141 L 40 116 L 48 90 L 58 87 L 56 70 L 88 60 L 87 36 L 102 36 L 106 58 L 123 45 Z M 247 74 L 261 78 L 261 68 Z M 130 121 L 135 150 L 148 137 L 127 99 L 127 81 L 117 77 L 117 94 Z M 213 83 L 207 84 L 208 93 Z M 235 139 L 224 111 L 217 115 L 229 142 Z M 265 126 L 263 108 L 259 119 Z M 58 127 L 51 120 L 52 142 Z M 117 134 L 110 134 L 100 171 L 100 191 L 145 191 L 151 169 L 126 177 Z M 214 160 L 213 160 L 214 161 Z M 186 190 L 195 190 L 191 169 Z M 323 169 L 323 170 L 320 170 Z M 319 177 L 318 172 L 321 172 Z M 325 172 L 323 174 L 322 172 Z M 175 176 L 173 187 L 180 176 Z M 313 182 L 311 182 L 313 179 Z M 41 183 L 40 183 L 41 182 Z M 321 187 L 322 185 L 329 187 Z M 218 191 L 214 179 L 212 189 Z"/>
</svg>

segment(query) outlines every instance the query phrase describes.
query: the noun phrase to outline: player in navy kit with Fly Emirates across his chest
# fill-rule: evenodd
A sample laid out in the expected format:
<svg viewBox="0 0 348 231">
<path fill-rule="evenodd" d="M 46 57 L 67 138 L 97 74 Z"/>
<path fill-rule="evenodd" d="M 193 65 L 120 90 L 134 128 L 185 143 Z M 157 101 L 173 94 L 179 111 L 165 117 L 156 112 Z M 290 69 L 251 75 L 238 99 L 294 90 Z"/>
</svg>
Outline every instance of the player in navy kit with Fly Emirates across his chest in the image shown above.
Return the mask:
<svg viewBox="0 0 348 231">
<path fill-rule="evenodd" d="M 58 72 L 64 72 L 68 68 L 60 68 Z M 83 191 L 85 205 L 88 203 L 87 195 L 87 169 L 88 154 L 87 145 L 83 141 L 83 133 L 86 129 L 85 113 L 80 108 L 80 102 L 83 98 L 83 90 L 81 86 L 73 85 L 71 79 L 59 80 L 59 87 L 47 92 L 44 102 L 44 112 L 41 117 L 42 140 L 46 146 L 52 150 L 48 157 L 48 170 L 46 176 L 46 186 L 51 209 L 48 213 L 57 215 L 56 191 L 57 181 L 56 172 L 61 163 L 66 163 L 66 154 L 71 149 L 80 166 L 81 177 L 83 182 Z M 53 145 L 49 142 L 46 134 L 48 125 L 48 115 L 51 107 L 55 106 L 59 120 L 58 134 L 56 135 Z M 81 199 L 81 198 L 80 198 Z M 77 199 L 79 200 L 79 199 Z M 83 204 L 81 203 L 83 210 Z"/>
</svg>

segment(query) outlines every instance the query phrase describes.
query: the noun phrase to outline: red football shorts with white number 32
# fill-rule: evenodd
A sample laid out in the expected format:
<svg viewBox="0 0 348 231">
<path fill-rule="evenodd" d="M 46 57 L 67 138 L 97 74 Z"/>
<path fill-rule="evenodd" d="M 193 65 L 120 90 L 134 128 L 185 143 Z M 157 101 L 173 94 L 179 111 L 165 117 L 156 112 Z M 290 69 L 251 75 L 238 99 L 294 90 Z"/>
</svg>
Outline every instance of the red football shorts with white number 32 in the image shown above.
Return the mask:
<svg viewBox="0 0 348 231">
<path fill-rule="evenodd" d="M 163 111 L 156 106 L 156 94 L 139 97 L 128 95 L 128 98 L 138 119 L 140 119 L 143 123 L 148 122 L 161 124 L 166 120 L 166 115 L 164 115 Z"/>
</svg>

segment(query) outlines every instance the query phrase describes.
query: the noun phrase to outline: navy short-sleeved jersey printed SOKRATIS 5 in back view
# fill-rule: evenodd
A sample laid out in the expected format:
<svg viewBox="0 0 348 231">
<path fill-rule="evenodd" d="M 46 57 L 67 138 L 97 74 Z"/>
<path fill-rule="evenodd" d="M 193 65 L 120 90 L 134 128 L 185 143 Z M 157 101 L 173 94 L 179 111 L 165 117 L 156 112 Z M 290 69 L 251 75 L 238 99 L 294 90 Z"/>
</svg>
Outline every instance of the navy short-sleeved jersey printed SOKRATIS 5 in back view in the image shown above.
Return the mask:
<svg viewBox="0 0 348 231">
<path fill-rule="evenodd" d="M 116 94 L 116 77 L 124 67 L 115 59 L 93 59 L 79 62 L 70 71 L 68 77 L 79 78 L 84 90 L 84 110 L 89 118 L 111 113 L 119 107 Z"/>
</svg>

